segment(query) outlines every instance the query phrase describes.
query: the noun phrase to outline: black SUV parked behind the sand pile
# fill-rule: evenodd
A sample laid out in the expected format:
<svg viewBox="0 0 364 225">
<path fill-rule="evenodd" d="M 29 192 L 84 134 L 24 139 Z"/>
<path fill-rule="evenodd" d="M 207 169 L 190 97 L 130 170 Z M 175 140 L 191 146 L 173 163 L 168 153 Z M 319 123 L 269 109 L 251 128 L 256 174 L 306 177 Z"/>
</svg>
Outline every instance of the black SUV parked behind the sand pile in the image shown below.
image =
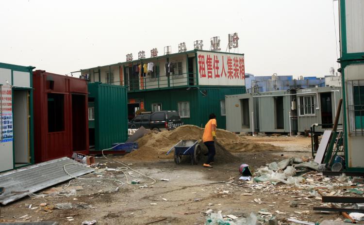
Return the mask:
<svg viewBox="0 0 364 225">
<path fill-rule="evenodd" d="M 161 131 L 163 129 L 175 129 L 182 126 L 178 111 L 157 111 L 137 115 L 129 122 L 130 129 L 138 129 L 143 126 L 146 129 Z"/>
</svg>

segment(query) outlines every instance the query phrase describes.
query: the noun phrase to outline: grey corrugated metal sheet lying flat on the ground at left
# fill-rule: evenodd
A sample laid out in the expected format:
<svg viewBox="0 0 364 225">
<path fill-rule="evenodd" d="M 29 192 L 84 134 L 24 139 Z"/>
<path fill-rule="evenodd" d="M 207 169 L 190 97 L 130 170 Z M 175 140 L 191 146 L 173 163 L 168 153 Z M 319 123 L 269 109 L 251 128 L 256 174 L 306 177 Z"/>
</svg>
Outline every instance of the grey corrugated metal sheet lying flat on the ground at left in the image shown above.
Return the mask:
<svg viewBox="0 0 364 225">
<path fill-rule="evenodd" d="M 75 177 L 94 171 L 90 167 L 64 157 L 0 174 L 0 187 L 5 188 L 5 192 L 0 195 L 0 203 L 6 205 L 27 196 L 29 193 L 71 179 L 72 177 L 67 175 L 63 168 L 64 165 L 69 163 L 75 163 L 66 166 L 67 172 Z M 12 193 L 25 191 L 28 192 Z"/>
</svg>

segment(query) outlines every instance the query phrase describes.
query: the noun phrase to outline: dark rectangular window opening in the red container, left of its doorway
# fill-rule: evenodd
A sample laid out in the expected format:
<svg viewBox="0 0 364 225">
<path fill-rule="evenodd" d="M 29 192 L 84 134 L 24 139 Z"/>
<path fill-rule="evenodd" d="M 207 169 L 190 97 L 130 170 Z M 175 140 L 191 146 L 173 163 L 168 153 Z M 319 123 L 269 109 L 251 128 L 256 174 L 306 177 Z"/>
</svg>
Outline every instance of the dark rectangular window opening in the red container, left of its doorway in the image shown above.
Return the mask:
<svg viewBox="0 0 364 225">
<path fill-rule="evenodd" d="M 48 94 L 48 132 L 65 129 L 65 97 L 63 94 Z"/>
</svg>

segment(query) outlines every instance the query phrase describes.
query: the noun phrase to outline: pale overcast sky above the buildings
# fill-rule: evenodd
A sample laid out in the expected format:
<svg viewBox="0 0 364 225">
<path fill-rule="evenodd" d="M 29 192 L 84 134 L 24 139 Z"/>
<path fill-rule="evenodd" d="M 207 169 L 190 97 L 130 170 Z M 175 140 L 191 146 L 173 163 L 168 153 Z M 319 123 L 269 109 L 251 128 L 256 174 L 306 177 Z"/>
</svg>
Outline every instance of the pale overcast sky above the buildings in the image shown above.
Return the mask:
<svg viewBox="0 0 364 225">
<path fill-rule="evenodd" d="M 324 76 L 338 68 L 337 10 L 332 0 L 1 0 L 0 62 L 68 74 L 197 39 L 208 50 L 213 36 L 225 51 L 237 32 L 247 73 Z"/>
</svg>

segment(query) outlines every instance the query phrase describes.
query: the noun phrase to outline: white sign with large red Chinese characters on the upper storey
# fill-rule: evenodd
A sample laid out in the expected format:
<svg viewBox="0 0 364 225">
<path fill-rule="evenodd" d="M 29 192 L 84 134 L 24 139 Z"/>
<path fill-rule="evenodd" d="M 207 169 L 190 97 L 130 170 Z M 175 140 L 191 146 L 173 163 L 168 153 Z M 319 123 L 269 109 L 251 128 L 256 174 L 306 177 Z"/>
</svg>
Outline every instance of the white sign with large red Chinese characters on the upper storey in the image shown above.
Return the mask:
<svg viewBox="0 0 364 225">
<path fill-rule="evenodd" d="M 245 84 L 245 65 L 243 55 L 211 52 L 199 53 L 198 66 L 200 84 Z"/>
</svg>

